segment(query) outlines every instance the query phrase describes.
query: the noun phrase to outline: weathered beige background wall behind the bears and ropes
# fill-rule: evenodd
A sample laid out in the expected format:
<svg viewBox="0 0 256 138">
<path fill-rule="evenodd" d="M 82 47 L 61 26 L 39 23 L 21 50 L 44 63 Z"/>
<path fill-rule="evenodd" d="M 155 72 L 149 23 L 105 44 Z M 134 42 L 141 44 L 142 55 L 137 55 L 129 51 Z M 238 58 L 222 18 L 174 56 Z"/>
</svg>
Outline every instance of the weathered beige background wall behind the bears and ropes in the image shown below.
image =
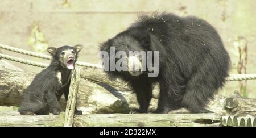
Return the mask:
<svg viewBox="0 0 256 138">
<path fill-rule="evenodd" d="M 238 60 L 234 41 L 238 36 L 246 37 L 249 41 L 247 72 L 256 73 L 256 1 L 254 0 L 1 0 L 0 43 L 36 52 L 44 52 L 48 45 L 59 47 L 82 44 L 84 49 L 79 60 L 98 63 L 99 43 L 125 30 L 136 20 L 138 12 L 150 13 L 156 10 L 174 12 L 181 16 L 195 15 L 207 20 L 220 33 L 234 65 Z M 35 24 L 39 30 L 35 31 Z M 37 44 L 31 44 L 35 36 Z M 22 57 L 32 59 L 27 56 Z M 45 62 L 38 58 L 33 60 Z M 13 64 L 33 72 L 42 70 Z M 230 73 L 237 73 L 236 69 L 231 70 Z M 249 97 L 256 98 L 255 85 L 256 81 L 248 82 Z M 231 94 L 237 86 L 238 82 L 228 82 L 220 93 Z"/>
</svg>

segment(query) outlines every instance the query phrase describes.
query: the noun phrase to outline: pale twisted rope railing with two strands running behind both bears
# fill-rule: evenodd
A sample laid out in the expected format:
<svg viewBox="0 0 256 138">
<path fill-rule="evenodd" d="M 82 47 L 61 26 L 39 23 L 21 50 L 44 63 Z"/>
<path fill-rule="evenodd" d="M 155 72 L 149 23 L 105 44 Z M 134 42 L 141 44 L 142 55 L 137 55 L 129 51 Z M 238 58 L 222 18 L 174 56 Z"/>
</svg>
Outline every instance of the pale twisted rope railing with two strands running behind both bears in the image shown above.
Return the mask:
<svg viewBox="0 0 256 138">
<path fill-rule="evenodd" d="M 8 45 L 0 44 L 0 48 L 6 49 L 8 51 L 22 53 L 22 54 L 28 55 L 28 56 L 34 56 L 34 57 L 39 57 L 39 58 L 44 58 L 44 59 L 47 59 L 47 60 L 51 60 L 51 56 L 43 55 L 43 54 L 31 52 L 31 51 L 26 51 L 26 50 L 19 49 L 19 48 L 10 47 Z M 10 61 L 19 62 L 19 63 L 22 63 L 22 64 L 38 66 L 38 67 L 41 67 L 41 68 L 47 68 L 47 66 L 48 66 L 48 64 L 43 64 L 41 62 L 35 62 L 35 61 L 31 61 L 31 60 L 24 60 L 23 58 L 18 58 L 18 57 L 9 56 L 9 55 L 5 55 L 5 54 L 0 53 L 0 59 L 1 58 L 6 59 L 6 60 L 10 60 Z M 102 67 L 98 64 L 90 64 L 90 63 L 86 63 L 86 62 L 79 62 L 79 64 L 77 64 L 77 65 L 86 66 L 86 67 L 89 67 L 89 68 L 102 69 Z M 256 74 L 230 74 L 230 76 L 228 78 L 226 78 L 226 81 L 242 81 L 242 80 L 255 80 L 255 79 L 256 79 Z"/>
</svg>

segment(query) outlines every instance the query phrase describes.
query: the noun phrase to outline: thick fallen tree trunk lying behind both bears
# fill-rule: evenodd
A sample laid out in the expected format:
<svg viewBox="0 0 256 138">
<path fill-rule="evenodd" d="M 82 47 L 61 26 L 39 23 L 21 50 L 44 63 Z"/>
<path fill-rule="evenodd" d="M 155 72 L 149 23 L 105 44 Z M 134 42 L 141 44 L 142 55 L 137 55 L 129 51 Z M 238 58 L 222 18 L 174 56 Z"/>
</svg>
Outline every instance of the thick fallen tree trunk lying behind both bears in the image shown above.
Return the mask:
<svg viewBox="0 0 256 138">
<path fill-rule="evenodd" d="M 23 92 L 36 73 L 20 72 L 0 66 L 0 106 L 20 106 Z M 77 107 L 84 114 L 93 113 L 128 113 L 131 108 L 138 108 L 135 94 L 126 83 L 109 81 L 101 70 L 84 69 L 81 72 Z M 158 87 L 153 91 L 150 109 L 155 109 L 158 102 Z M 64 98 L 60 99 L 61 107 L 65 109 Z M 209 110 L 218 115 L 256 115 L 256 99 L 242 98 L 238 94 L 231 97 L 216 95 L 210 102 Z M 186 110 L 177 110 L 184 113 Z"/>
</svg>

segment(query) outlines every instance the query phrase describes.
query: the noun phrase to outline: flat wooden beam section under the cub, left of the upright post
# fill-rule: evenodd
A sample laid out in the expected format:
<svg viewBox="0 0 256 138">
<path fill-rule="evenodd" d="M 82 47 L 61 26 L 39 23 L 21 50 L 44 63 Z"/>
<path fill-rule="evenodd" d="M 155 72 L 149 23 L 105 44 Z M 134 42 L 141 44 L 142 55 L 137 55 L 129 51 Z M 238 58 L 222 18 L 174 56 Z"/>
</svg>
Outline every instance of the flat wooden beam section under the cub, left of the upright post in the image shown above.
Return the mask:
<svg viewBox="0 0 256 138">
<path fill-rule="evenodd" d="M 0 112 L 1 127 L 61 127 L 64 112 L 60 115 L 20 115 L 18 112 Z"/>
</svg>

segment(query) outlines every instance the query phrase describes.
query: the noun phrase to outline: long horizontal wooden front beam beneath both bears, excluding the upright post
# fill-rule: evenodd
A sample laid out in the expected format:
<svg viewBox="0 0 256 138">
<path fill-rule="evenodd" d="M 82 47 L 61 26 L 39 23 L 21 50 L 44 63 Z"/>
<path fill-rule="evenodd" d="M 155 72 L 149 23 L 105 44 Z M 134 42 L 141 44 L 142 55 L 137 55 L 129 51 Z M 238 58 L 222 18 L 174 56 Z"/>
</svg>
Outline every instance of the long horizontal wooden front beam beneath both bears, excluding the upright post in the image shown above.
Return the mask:
<svg viewBox="0 0 256 138">
<path fill-rule="evenodd" d="M 19 115 L 16 111 L 0 112 L 0 126 L 63 126 L 64 118 L 64 112 L 38 116 Z M 76 115 L 73 126 L 219 126 L 220 118 L 216 114 L 90 114 Z"/>
</svg>

